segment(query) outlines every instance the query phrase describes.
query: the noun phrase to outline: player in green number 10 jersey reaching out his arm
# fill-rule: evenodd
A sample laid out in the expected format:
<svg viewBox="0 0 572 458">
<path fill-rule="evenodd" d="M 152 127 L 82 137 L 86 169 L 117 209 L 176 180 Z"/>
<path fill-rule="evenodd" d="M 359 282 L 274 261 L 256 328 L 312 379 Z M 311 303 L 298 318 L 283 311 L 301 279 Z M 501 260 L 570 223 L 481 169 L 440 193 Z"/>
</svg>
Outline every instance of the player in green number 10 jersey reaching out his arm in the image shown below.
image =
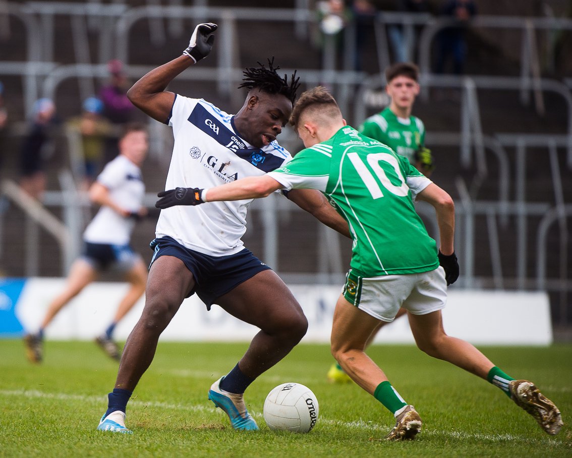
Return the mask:
<svg viewBox="0 0 572 458">
<path fill-rule="evenodd" d="M 443 330 L 447 285 L 459 275 L 454 253 L 455 209 L 451 197 L 403 156 L 348 127 L 327 89 L 308 90 L 290 118 L 306 149 L 264 176 L 210 189 L 162 191 L 158 208 L 217 200 L 260 198 L 277 189 L 319 189 L 347 220 L 352 259 L 333 315 L 331 350 L 353 381 L 396 418 L 387 440 L 414 439 L 422 421 L 404 401 L 364 346 L 380 321 L 407 310 L 418 347 L 488 380 L 530 413 L 543 431 L 562 428 L 558 408 L 527 380 L 514 380 L 474 346 Z M 435 207 L 440 247 L 415 212 L 414 199 Z"/>
</svg>

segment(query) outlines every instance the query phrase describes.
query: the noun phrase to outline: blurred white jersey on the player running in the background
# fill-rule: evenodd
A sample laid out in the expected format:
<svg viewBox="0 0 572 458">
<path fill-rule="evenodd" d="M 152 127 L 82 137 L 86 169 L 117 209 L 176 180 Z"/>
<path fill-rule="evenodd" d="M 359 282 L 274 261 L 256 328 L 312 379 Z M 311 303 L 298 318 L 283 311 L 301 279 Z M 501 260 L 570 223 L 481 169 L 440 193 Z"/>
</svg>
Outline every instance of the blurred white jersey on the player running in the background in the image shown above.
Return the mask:
<svg viewBox="0 0 572 458">
<path fill-rule="evenodd" d="M 123 155 L 117 156 L 105 166 L 97 182 L 109 189 L 109 197 L 121 208 L 137 212 L 145 195 L 141 169 Z M 129 243 L 135 221 L 124 218 L 108 206 L 102 206 L 84 232 L 84 240 L 90 243 L 126 245 Z"/>
</svg>

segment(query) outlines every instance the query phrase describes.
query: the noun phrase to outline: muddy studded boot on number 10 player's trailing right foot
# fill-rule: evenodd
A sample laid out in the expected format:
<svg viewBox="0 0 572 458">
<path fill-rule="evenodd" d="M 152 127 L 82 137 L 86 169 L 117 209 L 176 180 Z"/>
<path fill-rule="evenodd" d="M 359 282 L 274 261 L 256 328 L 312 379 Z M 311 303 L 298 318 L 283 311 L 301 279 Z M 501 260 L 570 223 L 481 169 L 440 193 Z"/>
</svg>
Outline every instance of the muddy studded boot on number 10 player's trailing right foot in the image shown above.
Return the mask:
<svg viewBox="0 0 572 458">
<path fill-rule="evenodd" d="M 560 410 L 549 398 L 528 380 L 509 382 L 511 399 L 526 412 L 530 413 L 542 430 L 554 436 L 563 426 Z"/>
</svg>

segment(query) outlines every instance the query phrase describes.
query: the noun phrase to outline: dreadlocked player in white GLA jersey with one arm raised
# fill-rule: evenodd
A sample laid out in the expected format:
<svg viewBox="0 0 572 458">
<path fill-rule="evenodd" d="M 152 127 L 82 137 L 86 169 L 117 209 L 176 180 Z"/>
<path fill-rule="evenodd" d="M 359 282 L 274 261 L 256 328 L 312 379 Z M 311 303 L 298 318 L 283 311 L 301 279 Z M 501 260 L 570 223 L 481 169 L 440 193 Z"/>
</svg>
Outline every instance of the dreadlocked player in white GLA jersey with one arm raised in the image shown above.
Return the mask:
<svg viewBox="0 0 572 458">
<path fill-rule="evenodd" d="M 288 122 L 299 83 L 295 74 L 280 77 L 273 61 L 268 68 L 261 64 L 244 72 L 239 88 L 248 94 L 235 116 L 204 100 L 165 91 L 173 78 L 209 54 L 216 28 L 212 23 L 198 25 L 182 56 L 152 70 L 128 92 L 134 105 L 173 128 L 166 189 L 190 183 L 210 187 L 244 176 L 264 176 L 291 159 L 275 140 Z M 319 192 L 299 189 L 288 198 L 349 236 L 347 223 Z M 235 368 L 215 381 L 208 393 L 215 406 L 228 414 L 233 428 L 258 429 L 243 393 L 290 352 L 304 336 L 308 322 L 284 282 L 243 246 L 249 203 L 251 199 L 161 211 L 152 242 L 145 308 L 125 344 L 116 385 L 98 429 L 130 432 L 125 427 L 129 397 L 151 364 L 162 331 L 193 293 L 207 307 L 216 303 L 260 328 Z"/>
</svg>

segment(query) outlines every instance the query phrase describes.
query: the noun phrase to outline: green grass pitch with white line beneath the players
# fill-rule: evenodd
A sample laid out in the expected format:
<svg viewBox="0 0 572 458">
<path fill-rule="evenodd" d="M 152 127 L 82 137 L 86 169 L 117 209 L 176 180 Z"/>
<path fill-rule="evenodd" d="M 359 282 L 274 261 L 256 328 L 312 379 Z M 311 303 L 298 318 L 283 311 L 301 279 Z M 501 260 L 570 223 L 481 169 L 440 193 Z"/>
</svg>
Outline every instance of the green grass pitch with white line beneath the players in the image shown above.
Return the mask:
<svg viewBox="0 0 572 458">
<path fill-rule="evenodd" d="M 357 385 L 328 384 L 327 345 L 299 345 L 247 390 L 260 431 L 236 432 L 206 399 L 247 344 L 160 342 L 128 405 L 133 435 L 96 431 L 117 364 L 91 342 L 48 341 L 45 361 L 31 365 L 21 341 L 0 340 L 0 457 L 105 456 L 572 456 L 572 345 L 483 348 L 505 372 L 533 380 L 561 409 L 557 436 L 498 388 L 413 346 L 376 345 L 368 354 L 423 418 L 415 441 L 380 441 L 391 413 Z M 276 385 L 296 381 L 316 394 L 320 417 L 309 434 L 276 433 L 262 406 Z"/>
</svg>

